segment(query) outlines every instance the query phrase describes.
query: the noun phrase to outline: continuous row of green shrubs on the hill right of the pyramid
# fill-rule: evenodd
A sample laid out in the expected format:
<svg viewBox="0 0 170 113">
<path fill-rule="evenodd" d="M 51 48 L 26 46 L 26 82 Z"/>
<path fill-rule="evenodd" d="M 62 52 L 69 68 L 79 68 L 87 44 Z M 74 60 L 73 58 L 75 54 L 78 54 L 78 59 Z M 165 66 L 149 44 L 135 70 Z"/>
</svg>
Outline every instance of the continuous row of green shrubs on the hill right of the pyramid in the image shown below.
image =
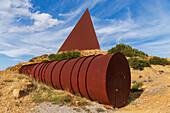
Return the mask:
<svg viewBox="0 0 170 113">
<path fill-rule="evenodd" d="M 170 65 L 170 61 L 165 58 L 153 57 L 151 59 L 147 59 L 148 54 L 139 51 L 137 49 L 132 48 L 126 44 L 117 44 L 116 47 L 113 47 L 108 50 L 108 54 L 121 52 L 125 56 L 130 57 L 128 59 L 130 66 L 133 69 L 143 70 L 144 67 L 150 67 L 153 65 Z"/>
</svg>

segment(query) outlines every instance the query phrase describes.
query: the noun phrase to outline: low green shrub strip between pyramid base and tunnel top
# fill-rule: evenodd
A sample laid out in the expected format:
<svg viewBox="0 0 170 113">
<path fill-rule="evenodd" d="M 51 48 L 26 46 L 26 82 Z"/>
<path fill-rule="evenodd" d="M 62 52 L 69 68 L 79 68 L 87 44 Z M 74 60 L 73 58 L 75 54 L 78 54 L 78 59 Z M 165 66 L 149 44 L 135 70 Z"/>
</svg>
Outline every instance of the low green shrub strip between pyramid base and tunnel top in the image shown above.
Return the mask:
<svg viewBox="0 0 170 113">
<path fill-rule="evenodd" d="M 72 58 L 80 58 L 81 57 L 81 53 L 78 52 L 78 51 L 71 51 L 71 52 L 63 52 L 63 53 L 60 53 L 60 54 L 50 54 L 48 56 L 48 58 L 51 60 L 51 61 L 54 61 L 54 60 L 64 60 L 64 59 L 72 59 Z"/>
</svg>

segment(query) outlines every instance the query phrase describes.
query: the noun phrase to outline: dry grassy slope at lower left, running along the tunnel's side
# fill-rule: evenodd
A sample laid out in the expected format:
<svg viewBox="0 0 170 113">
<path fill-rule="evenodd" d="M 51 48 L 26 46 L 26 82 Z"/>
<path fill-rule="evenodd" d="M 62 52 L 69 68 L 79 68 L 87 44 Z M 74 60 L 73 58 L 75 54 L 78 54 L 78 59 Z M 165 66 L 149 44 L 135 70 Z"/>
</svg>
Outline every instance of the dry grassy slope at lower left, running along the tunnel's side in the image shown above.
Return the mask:
<svg viewBox="0 0 170 113">
<path fill-rule="evenodd" d="M 28 88 L 27 82 L 33 83 L 33 87 Z M 21 98 L 15 98 L 13 96 L 14 89 L 23 90 L 24 95 Z M 44 101 L 77 107 L 91 104 L 91 101 L 86 98 L 56 90 L 29 76 L 6 71 L 0 72 L 0 100 L 0 113 L 27 111 Z"/>
</svg>

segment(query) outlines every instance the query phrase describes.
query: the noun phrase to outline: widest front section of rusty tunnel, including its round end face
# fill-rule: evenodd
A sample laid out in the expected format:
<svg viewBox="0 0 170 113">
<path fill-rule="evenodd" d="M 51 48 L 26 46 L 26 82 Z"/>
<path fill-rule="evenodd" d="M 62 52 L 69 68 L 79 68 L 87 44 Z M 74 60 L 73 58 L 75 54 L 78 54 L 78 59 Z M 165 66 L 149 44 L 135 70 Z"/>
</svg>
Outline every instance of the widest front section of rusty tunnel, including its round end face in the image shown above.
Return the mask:
<svg viewBox="0 0 170 113">
<path fill-rule="evenodd" d="M 120 80 L 116 76 L 119 75 L 125 78 L 124 83 L 119 84 L 121 87 L 116 86 L 116 82 Z M 130 93 L 130 69 L 126 57 L 116 53 L 94 58 L 87 72 L 86 85 L 92 100 L 115 107 L 124 106 Z"/>
</svg>

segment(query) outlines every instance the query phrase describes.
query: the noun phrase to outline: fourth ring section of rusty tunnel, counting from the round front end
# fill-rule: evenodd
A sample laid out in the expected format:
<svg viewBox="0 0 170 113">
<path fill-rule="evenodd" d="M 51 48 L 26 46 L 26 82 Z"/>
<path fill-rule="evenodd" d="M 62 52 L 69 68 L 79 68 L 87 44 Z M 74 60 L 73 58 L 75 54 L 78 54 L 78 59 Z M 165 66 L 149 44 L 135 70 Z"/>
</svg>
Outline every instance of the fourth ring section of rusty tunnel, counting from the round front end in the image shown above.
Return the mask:
<svg viewBox="0 0 170 113">
<path fill-rule="evenodd" d="M 68 62 L 65 63 L 63 66 L 63 69 L 61 71 L 60 75 L 60 82 L 61 82 L 61 87 L 69 92 L 73 92 L 72 86 L 71 86 L 71 72 L 74 67 L 74 64 L 79 58 L 75 59 L 70 59 Z"/>
</svg>

